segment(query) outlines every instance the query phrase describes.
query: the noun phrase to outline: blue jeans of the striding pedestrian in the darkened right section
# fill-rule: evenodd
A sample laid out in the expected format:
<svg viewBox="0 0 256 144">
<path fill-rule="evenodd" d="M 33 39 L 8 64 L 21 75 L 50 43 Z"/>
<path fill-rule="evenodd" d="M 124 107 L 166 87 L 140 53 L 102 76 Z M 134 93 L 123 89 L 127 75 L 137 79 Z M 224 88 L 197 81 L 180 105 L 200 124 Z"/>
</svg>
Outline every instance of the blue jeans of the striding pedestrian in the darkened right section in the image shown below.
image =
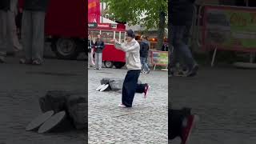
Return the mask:
<svg viewBox="0 0 256 144">
<path fill-rule="evenodd" d="M 171 27 L 171 41 L 174 46 L 174 50 L 170 57 L 170 68 L 175 67 L 180 58 L 183 58 L 186 66 L 188 66 L 189 70 L 191 70 L 196 62 L 194 61 L 189 46 L 184 41 L 184 36 L 186 36 L 184 33 L 186 33 L 187 26 Z"/>
</svg>

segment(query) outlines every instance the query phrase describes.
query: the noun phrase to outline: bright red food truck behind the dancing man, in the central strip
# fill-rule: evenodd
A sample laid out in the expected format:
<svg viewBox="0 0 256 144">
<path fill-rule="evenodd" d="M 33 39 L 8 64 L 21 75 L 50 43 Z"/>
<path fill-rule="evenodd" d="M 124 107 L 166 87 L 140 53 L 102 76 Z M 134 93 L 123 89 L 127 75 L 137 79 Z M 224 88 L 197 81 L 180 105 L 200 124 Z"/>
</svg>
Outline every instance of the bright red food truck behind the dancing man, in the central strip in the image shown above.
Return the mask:
<svg viewBox="0 0 256 144">
<path fill-rule="evenodd" d="M 116 68 L 122 68 L 126 64 L 126 54 L 122 50 L 114 48 L 113 42 L 110 42 L 113 38 L 116 38 L 119 42 L 124 42 L 126 39 L 126 29 L 122 25 L 111 25 L 110 23 L 89 23 L 89 33 L 95 42 L 98 34 L 102 35 L 102 40 L 105 43 L 105 48 L 102 52 L 102 61 L 107 68 L 115 66 Z"/>
</svg>

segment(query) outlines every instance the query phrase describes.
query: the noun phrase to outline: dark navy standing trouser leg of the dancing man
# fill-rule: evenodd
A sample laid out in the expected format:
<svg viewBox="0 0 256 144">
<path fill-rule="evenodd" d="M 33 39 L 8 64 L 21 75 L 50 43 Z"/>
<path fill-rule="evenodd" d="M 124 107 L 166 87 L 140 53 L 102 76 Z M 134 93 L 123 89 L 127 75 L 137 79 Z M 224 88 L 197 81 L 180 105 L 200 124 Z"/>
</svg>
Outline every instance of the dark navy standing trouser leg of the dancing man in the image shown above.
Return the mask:
<svg viewBox="0 0 256 144">
<path fill-rule="evenodd" d="M 138 77 L 141 70 L 129 70 L 122 86 L 122 104 L 132 107 L 134 94 L 137 91 Z"/>
</svg>

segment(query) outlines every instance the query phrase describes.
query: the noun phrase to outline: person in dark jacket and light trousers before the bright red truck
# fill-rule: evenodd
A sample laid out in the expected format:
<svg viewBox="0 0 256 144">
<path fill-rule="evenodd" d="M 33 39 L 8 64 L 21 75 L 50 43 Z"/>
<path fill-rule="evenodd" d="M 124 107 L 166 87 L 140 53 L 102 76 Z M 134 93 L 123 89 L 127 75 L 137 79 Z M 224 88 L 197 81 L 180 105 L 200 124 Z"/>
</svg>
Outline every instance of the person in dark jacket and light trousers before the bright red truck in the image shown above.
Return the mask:
<svg viewBox="0 0 256 144">
<path fill-rule="evenodd" d="M 105 47 L 105 44 L 102 41 L 100 34 L 98 34 L 97 36 L 94 47 L 95 47 L 95 65 L 96 65 L 94 70 L 102 70 L 102 51 Z"/>
</svg>

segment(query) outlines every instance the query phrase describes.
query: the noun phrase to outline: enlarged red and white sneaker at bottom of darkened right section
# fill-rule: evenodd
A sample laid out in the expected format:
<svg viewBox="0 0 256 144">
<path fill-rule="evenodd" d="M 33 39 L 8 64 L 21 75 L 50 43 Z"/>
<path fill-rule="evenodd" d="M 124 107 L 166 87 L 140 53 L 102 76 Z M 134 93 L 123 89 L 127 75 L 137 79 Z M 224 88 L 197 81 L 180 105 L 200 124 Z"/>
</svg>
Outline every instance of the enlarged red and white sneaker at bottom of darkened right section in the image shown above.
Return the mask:
<svg viewBox="0 0 256 144">
<path fill-rule="evenodd" d="M 189 144 L 190 134 L 194 130 L 196 124 L 199 121 L 198 115 L 190 115 L 187 117 L 184 122 L 185 126 L 182 129 L 182 143 L 181 144 Z"/>
</svg>

